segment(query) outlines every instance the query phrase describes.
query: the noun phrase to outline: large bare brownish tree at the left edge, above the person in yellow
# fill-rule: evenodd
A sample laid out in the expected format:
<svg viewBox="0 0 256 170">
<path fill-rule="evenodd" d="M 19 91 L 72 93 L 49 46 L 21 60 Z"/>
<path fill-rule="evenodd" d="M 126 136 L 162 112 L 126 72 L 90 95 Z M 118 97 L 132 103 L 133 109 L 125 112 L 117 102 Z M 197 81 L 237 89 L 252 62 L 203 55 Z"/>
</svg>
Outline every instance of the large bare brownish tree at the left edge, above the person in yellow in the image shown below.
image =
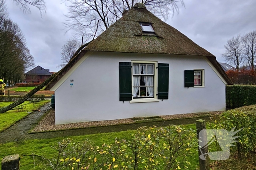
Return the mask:
<svg viewBox="0 0 256 170">
<path fill-rule="evenodd" d="M 8 19 L 4 0 L 0 0 L 0 78 L 21 80 L 24 71 L 34 65 L 19 26 Z"/>
</svg>

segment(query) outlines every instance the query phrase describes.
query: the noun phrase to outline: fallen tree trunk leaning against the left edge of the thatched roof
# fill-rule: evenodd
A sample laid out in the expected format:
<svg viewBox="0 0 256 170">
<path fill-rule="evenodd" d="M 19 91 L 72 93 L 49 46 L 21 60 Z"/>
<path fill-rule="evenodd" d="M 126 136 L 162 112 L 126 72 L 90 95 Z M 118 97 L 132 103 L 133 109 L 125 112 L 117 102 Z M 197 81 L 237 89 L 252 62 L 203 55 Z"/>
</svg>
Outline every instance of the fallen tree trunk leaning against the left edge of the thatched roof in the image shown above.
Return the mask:
<svg viewBox="0 0 256 170">
<path fill-rule="evenodd" d="M 78 48 L 78 50 L 75 52 L 75 54 L 72 56 L 75 57 L 76 55 L 78 55 L 78 53 L 83 50 L 84 47 L 86 47 L 88 44 L 90 44 L 91 41 L 89 43 L 86 43 L 86 44 L 83 44 L 81 47 Z M 71 59 L 72 59 L 71 58 Z M 1 107 L 0 108 L 0 113 L 4 113 L 4 112 L 7 112 L 8 110 L 11 110 L 12 108 L 24 103 L 28 98 L 30 98 L 32 95 L 34 95 L 37 91 L 41 90 L 43 87 L 45 87 L 46 85 L 48 85 L 52 79 L 58 75 L 59 72 L 53 74 L 52 76 L 50 76 L 48 79 L 46 79 L 42 84 L 40 84 L 39 86 L 35 87 L 33 90 L 31 90 L 28 94 L 26 94 L 22 99 L 6 106 L 6 107 Z"/>
</svg>

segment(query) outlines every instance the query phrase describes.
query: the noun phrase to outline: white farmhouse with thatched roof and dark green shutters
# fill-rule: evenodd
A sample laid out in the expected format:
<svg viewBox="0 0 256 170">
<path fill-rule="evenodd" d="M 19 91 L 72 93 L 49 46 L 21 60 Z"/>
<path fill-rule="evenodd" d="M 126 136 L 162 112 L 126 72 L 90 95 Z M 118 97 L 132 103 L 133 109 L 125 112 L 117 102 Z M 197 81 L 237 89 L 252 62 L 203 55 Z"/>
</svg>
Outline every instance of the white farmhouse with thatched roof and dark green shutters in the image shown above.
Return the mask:
<svg viewBox="0 0 256 170">
<path fill-rule="evenodd" d="M 232 84 L 214 55 L 135 6 L 72 58 L 46 89 L 56 124 L 225 110 Z"/>
</svg>

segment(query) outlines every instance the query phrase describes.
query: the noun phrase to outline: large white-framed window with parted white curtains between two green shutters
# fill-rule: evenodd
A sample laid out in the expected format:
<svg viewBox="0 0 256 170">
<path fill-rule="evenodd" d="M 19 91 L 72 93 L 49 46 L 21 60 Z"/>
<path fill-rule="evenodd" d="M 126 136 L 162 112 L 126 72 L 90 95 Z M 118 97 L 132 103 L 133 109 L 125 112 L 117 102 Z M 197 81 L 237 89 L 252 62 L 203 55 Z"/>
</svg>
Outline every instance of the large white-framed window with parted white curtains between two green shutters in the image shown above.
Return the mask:
<svg viewBox="0 0 256 170">
<path fill-rule="evenodd" d="M 138 98 L 154 98 L 155 85 L 155 64 L 154 63 L 133 63 L 132 64 L 132 96 Z"/>
</svg>

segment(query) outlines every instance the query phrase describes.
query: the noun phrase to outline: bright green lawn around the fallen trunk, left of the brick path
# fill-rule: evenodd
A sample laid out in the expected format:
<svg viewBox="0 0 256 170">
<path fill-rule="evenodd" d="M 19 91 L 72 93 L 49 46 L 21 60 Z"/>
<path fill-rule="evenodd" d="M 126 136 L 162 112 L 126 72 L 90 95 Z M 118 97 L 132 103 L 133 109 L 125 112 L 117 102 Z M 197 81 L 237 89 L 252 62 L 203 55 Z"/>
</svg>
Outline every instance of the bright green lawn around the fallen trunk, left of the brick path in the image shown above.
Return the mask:
<svg viewBox="0 0 256 170">
<path fill-rule="evenodd" d="M 9 110 L 5 113 L 1 113 L 0 114 L 0 132 L 7 129 L 12 124 L 19 121 L 20 119 L 23 119 L 24 117 L 26 117 L 29 114 L 28 112 L 33 112 L 33 110 L 36 110 L 37 108 L 43 106 L 48 102 L 49 100 L 43 100 L 37 103 L 30 103 L 29 101 L 26 101 L 20 104 L 19 106 L 15 107 L 15 108 L 23 107 L 23 109 Z M 11 103 L 13 102 L 0 102 L 0 107 L 8 106 Z"/>
</svg>

